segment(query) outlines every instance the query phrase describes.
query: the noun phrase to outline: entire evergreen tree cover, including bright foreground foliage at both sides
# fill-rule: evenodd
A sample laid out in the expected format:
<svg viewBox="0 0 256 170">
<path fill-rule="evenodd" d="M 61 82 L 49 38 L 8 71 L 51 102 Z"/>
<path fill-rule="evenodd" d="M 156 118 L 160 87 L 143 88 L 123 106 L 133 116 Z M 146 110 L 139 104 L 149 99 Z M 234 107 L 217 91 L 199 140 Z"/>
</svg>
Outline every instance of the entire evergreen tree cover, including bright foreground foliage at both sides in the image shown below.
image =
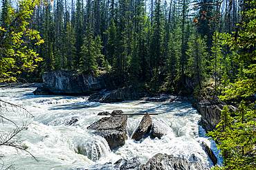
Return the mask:
<svg viewBox="0 0 256 170">
<path fill-rule="evenodd" d="M 224 107 L 208 133 L 224 159 L 216 169 L 256 168 L 255 0 L 1 1 L 0 82 L 42 81 L 44 72 L 107 74 L 119 87 L 199 94 Z M 33 72 L 27 72 L 33 71 Z"/>
</svg>

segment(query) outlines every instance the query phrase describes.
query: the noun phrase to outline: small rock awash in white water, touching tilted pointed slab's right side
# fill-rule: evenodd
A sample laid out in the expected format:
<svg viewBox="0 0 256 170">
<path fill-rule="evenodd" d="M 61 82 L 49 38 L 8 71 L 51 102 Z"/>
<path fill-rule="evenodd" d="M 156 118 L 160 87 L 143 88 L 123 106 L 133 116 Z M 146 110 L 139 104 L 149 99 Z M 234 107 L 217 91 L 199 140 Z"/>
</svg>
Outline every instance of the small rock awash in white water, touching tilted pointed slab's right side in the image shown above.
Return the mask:
<svg viewBox="0 0 256 170">
<path fill-rule="evenodd" d="M 172 128 L 158 118 L 152 118 L 152 136 L 161 138 L 166 135 Z"/>
</svg>

